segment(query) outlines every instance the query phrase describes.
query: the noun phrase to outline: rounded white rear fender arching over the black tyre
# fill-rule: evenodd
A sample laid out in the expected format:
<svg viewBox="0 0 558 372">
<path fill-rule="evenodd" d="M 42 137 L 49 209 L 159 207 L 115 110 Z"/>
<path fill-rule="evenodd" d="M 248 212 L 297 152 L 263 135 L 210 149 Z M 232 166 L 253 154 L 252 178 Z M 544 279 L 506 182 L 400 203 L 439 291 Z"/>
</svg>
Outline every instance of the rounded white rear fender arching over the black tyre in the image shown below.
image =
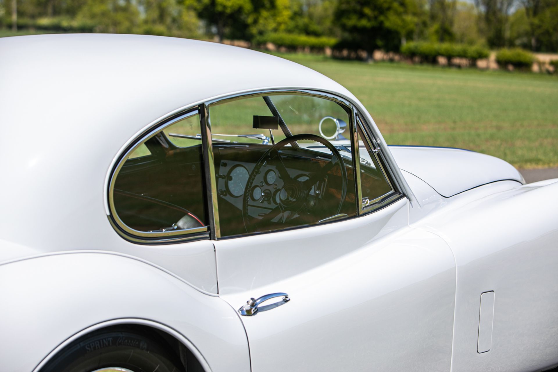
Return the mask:
<svg viewBox="0 0 558 372">
<path fill-rule="evenodd" d="M 3 370 L 32 371 L 76 337 L 126 322 L 175 336 L 211 371 L 250 368 L 246 333 L 227 303 L 133 258 L 65 253 L 4 264 L 0 299 Z"/>
</svg>

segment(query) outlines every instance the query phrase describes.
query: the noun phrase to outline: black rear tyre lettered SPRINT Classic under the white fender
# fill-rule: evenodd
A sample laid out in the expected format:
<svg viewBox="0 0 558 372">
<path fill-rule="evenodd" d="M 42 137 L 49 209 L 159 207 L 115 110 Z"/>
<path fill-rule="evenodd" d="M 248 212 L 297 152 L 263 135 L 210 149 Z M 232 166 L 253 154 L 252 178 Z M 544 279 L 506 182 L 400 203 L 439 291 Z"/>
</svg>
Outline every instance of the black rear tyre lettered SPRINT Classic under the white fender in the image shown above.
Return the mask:
<svg viewBox="0 0 558 372">
<path fill-rule="evenodd" d="M 101 330 L 80 337 L 52 358 L 41 372 L 93 372 L 103 368 L 132 372 L 184 372 L 174 349 L 155 332 Z"/>
</svg>

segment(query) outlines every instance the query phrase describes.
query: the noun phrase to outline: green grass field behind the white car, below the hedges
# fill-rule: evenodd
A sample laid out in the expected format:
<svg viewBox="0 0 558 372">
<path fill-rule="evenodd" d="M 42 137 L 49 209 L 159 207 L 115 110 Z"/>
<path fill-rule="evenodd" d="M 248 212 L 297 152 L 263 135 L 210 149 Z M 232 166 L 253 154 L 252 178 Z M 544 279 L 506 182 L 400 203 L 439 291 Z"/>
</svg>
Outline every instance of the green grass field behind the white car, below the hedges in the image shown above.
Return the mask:
<svg viewBox="0 0 558 372">
<path fill-rule="evenodd" d="M 468 148 L 519 168 L 558 166 L 558 77 L 276 54 L 329 76 L 389 144 Z"/>
</svg>

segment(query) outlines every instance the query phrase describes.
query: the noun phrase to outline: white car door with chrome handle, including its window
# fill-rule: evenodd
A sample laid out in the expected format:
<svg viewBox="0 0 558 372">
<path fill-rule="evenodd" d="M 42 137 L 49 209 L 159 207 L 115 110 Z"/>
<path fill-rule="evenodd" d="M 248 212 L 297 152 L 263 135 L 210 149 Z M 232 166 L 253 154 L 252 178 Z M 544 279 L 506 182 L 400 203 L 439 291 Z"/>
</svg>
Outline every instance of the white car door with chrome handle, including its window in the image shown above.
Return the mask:
<svg viewBox="0 0 558 372">
<path fill-rule="evenodd" d="M 218 196 L 212 206 L 219 295 L 239 311 L 252 370 L 449 371 L 455 263 L 448 245 L 408 226 L 408 200 L 349 103 L 315 92 L 277 93 L 289 95 L 235 97 L 210 104 L 205 117 L 215 160 L 211 191 Z M 243 127 L 252 116 L 252 128 Z M 212 133 L 267 134 L 257 122 L 271 123 L 271 143 L 211 142 L 219 137 Z M 349 139 L 341 134 L 345 123 Z M 288 142 L 290 136 L 301 139 Z M 325 165 L 316 171 L 320 161 Z M 235 171 L 240 166 L 246 172 Z M 267 179 L 271 171 L 276 178 Z M 329 206 L 321 215 L 287 205 L 300 205 L 290 182 L 308 180 L 307 189 L 300 186 L 302 204 Z M 276 297 L 249 315 L 247 301 L 268 294 Z"/>
</svg>

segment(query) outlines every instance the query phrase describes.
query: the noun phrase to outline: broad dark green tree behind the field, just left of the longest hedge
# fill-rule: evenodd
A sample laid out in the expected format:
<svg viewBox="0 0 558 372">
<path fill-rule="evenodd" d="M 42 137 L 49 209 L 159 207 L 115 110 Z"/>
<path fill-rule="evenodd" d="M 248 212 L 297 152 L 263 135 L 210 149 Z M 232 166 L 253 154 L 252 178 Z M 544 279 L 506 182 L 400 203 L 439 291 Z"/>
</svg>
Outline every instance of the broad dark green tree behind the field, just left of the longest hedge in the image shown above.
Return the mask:
<svg viewBox="0 0 558 372">
<path fill-rule="evenodd" d="M 372 59 L 375 49 L 398 51 L 412 35 L 415 17 L 407 0 L 339 0 L 335 18 L 349 40 Z"/>
</svg>

